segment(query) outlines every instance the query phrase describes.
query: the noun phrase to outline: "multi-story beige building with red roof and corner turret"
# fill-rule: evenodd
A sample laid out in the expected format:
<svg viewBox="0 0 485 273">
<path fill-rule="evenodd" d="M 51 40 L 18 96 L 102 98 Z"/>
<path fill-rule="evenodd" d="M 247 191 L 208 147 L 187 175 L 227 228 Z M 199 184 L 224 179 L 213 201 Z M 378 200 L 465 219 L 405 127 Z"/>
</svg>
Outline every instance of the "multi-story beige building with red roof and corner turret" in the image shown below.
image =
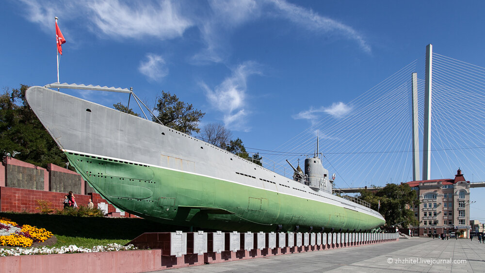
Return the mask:
<svg viewBox="0 0 485 273">
<path fill-rule="evenodd" d="M 458 169 L 454 179 L 434 179 L 407 182 L 419 196 L 420 204 L 414 206 L 414 216 L 419 226 L 411 226 L 414 236 L 428 236 L 463 231 L 469 238 L 470 231 L 470 181 Z"/>
</svg>

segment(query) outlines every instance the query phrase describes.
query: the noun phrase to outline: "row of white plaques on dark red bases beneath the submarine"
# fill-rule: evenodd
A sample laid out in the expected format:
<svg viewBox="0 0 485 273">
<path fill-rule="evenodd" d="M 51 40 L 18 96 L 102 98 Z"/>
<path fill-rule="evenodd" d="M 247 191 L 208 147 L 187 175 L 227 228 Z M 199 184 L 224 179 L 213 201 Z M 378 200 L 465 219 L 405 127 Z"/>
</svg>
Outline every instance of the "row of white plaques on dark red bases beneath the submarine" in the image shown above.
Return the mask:
<svg viewBox="0 0 485 273">
<path fill-rule="evenodd" d="M 264 248 L 302 247 L 316 245 L 337 245 L 369 243 L 373 241 L 395 240 L 397 233 L 292 233 L 292 232 L 170 232 L 170 256 L 222 251 L 251 251 Z M 164 255 L 168 255 L 164 250 Z"/>
</svg>

